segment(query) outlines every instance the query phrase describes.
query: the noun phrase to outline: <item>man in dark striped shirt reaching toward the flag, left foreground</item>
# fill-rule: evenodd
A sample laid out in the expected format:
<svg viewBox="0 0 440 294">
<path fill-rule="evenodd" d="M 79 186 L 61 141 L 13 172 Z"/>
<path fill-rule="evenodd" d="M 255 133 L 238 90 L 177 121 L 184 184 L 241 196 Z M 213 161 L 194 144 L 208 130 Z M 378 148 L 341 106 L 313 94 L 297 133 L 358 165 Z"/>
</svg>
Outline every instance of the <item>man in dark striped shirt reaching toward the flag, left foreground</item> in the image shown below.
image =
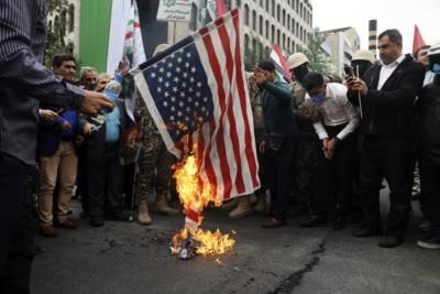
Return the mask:
<svg viewBox="0 0 440 294">
<path fill-rule="evenodd" d="M 29 293 L 33 224 L 25 184 L 35 164 L 38 105 L 97 115 L 113 104 L 42 65 L 45 0 L 0 1 L 0 293 Z"/>
</svg>

